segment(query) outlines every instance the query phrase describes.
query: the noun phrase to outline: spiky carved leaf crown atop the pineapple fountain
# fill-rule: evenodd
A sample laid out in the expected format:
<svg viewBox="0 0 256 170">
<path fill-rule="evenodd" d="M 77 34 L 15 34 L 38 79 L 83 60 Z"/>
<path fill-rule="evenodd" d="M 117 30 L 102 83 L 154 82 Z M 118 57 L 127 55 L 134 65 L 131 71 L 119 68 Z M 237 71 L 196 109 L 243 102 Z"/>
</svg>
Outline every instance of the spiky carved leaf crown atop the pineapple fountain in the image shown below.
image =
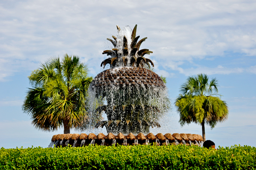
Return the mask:
<svg viewBox="0 0 256 170">
<path fill-rule="evenodd" d="M 116 27 L 117 27 L 117 31 L 120 32 L 121 31 L 120 27 L 118 25 L 116 25 Z M 112 50 L 103 51 L 102 54 L 110 55 L 111 58 L 107 58 L 106 60 L 102 61 L 100 66 L 103 65 L 103 68 L 105 68 L 107 64 L 110 64 L 111 68 L 118 67 L 120 65 L 143 67 L 144 64 L 147 64 L 149 66 L 149 63 L 151 63 L 151 65 L 154 67 L 154 63 L 150 59 L 144 58 L 145 54 L 149 55 L 150 53 L 153 53 L 153 52 L 149 51 L 149 49 L 139 50 L 141 43 L 145 41 L 147 37 L 141 39 L 137 43 L 140 36 L 136 37 L 136 30 L 137 30 L 137 24 L 134 26 L 134 29 L 131 33 L 131 46 L 130 46 L 131 48 L 128 48 L 127 37 L 125 36 L 123 37 L 121 50 L 117 49 L 118 42 L 115 36 L 112 36 L 114 40 L 107 38 L 107 40 L 109 40 L 113 44 L 114 48 Z"/>
</svg>

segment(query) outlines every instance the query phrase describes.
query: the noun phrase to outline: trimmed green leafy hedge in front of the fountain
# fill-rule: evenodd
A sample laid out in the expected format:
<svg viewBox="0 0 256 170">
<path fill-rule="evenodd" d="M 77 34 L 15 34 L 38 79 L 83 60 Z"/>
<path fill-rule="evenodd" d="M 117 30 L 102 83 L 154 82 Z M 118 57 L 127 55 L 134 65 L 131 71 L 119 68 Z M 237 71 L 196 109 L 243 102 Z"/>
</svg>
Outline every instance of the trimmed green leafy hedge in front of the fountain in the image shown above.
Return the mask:
<svg viewBox="0 0 256 170">
<path fill-rule="evenodd" d="M 87 146 L 0 149 L 1 170 L 256 170 L 250 146 Z"/>
</svg>

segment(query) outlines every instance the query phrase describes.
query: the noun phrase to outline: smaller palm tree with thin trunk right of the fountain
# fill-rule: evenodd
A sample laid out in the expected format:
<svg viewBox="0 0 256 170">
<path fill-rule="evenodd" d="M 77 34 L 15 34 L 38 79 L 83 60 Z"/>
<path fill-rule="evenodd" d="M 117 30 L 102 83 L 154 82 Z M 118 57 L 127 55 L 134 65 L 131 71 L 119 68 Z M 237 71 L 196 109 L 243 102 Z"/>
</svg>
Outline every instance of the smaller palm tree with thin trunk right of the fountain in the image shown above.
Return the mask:
<svg viewBox="0 0 256 170">
<path fill-rule="evenodd" d="M 180 124 L 200 123 L 205 141 L 204 124 L 214 128 L 218 122 L 227 120 L 228 108 L 225 101 L 218 96 L 218 80 L 206 74 L 198 74 L 187 78 L 181 85 L 180 96 L 175 101 L 180 113 Z M 220 95 L 219 95 L 220 96 Z"/>
</svg>

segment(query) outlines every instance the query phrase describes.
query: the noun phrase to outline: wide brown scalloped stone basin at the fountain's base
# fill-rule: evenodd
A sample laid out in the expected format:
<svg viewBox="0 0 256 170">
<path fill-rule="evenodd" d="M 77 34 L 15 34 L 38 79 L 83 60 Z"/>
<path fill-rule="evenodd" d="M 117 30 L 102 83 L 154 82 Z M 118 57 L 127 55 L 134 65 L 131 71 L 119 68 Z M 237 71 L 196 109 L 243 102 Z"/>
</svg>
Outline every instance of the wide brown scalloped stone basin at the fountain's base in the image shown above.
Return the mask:
<svg viewBox="0 0 256 170">
<path fill-rule="evenodd" d="M 52 141 L 49 144 L 49 147 L 66 147 L 67 145 L 71 145 L 73 147 L 82 147 L 88 146 L 90 144 L 111 146 L 111 145 L 137 145 L 137 144 L 156 144 L 156 145 L 168 145 L 168 144 L 186 144 L 188 146 L 195 144 L 201 146 L 203 144 L 203 138 L 201 135 L 196 134 L 186 134 L 186 133 L 166 133 L 163 135 L 162 133 L 158 133 L 157 135 L 153 135 L 153 133 L 148 133 L 148 135 L 143 135 L 143 133 L 139 133 L 137 136 L 130 133 L 128 135 L 123 135 L 119 133 L 118 135 L 113 135 L 112 133 L 108 133 L 108 135 L 104 135 L 103 133 L 99 133 L 95 135 L 94 133 L 90 133 L 89 135 L 85 133 L 81 133 L 80 135 L 77 133 L 74 134 L 59 134 L 53 135 Z"/>
</svg>

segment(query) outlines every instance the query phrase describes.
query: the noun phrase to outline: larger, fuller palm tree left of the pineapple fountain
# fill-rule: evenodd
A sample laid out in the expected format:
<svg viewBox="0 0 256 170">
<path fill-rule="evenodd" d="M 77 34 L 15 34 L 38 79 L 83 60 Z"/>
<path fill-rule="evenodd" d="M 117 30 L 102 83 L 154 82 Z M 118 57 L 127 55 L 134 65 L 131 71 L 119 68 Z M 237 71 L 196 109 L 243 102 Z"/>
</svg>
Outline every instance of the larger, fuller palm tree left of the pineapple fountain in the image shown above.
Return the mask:
<svg viewBox="0 0 256 170">
<path fill-rule="evenodd" d="M 23 111 L 32 118 L 35 128 L 54 131 L 64 127 L 83 129 L 87 123 L 86 97 L 92 77 L 87 65 L 77 56 L 51 58 L 29 76 L 30 84 Z"/>
</svg>

